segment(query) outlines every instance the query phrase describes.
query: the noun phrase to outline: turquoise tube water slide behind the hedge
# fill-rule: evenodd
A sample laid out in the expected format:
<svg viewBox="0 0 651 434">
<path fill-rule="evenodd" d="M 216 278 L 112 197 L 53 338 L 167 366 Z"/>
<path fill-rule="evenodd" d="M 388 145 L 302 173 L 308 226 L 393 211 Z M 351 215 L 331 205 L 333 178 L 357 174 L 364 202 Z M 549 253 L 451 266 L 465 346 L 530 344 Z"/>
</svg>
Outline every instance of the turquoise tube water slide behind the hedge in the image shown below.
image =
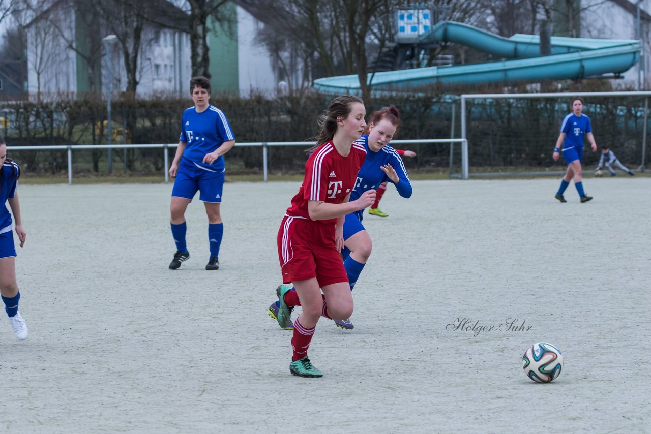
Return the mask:
<svg viewBox="0 0 651 434">
<path fill-rule="evenodd" d="M 514 34 L 504 38 L 471 25 L 441 21 L 420 37 L 422 43 L 455 43 L 490 53 L 503 60 L 458 66 L 431 66 L 368 76 L 373 90 L 415 90 L 428 85 L 513 83 L 544 79 L 581 79 L 621 74 L 639 61 L 637 40 L 565 38 L 551 36 L 551 54 L 540 55 L 540 38 Z M 329 94 L 359 92 L 357 75 L 314 80 L 314 88 Z"/>
</svg>

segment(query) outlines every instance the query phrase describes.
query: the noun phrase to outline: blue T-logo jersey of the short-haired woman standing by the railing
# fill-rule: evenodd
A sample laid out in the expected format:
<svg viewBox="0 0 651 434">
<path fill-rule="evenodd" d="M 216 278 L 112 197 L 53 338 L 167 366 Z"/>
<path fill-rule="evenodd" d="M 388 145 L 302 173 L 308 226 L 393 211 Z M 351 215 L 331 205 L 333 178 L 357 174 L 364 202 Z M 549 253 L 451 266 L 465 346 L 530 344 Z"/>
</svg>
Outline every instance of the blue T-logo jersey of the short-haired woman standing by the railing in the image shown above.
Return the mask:
<svg viewBox="0 0 651 434">
<path fill-rule="evenodd" d="M 210 104 L 201 113 L 197 113 L 194 106 L 183 112 L 181 137 L 178 140 L 186 143 L 183 157 L 192 165 L 200 169 L 222 172 L 225 168 L 224 156 L 219 156 L 212 164 L 204 163 L 203 159 L 223 142 L 235 140 L 235 135 L 223 111 Z"/>
</svg>

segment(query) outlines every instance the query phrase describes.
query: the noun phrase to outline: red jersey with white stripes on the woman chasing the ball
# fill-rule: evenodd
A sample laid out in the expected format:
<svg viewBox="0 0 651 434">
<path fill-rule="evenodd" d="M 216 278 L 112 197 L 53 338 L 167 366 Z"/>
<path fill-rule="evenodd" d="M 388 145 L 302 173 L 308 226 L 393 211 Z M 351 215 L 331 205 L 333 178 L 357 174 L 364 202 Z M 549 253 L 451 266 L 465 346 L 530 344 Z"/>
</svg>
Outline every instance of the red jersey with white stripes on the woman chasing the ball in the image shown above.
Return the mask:
<svg viewBox="0 0 651 434">
<path fill-rule="evenodd" d="M 316 200 L 328 204 L 340 204 L 352 191 L 357 172 L 366 158 L 363 145 L 353 142 L 350 154 L 344 157 L 333 142 L 322 144 L 312 152 L 305 163 L 305 177 L 301 188 L 287 208 L 290 217 L 310 219 L 307 202 Z M 337 219 L 318 220 L 318 223 L 335 224 Z"/>
</svg>

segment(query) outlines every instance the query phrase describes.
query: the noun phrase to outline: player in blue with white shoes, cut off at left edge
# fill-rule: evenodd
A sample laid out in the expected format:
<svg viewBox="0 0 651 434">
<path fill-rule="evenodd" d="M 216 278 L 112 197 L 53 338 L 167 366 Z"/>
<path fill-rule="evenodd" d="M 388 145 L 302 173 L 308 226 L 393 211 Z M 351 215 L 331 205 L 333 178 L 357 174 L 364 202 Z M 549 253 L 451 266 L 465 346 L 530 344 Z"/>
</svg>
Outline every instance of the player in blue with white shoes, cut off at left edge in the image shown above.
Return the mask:
<svg viewBox="0 0 651 434">
<path fill-rule="evenodd" d="M 16 161 L 7 158 L 7 144 L 0 136 L 0 295 L 5 303 L 5 312 L 9 317 L 12 329 L 18 340 L 27 339 L 27 323 L 18 312 L 18 282 L 16 282 L 16 247 L 12 233 L 11 214 L 5 206 L 9 202 L 11 213 L 16 223 L 16 235 L 20 239 L 20 247 L 25 245 L 27 232 L 23 228 L 20 218 L 20 204 L 18 203 L 18 178 L 20 167 Z"/>
</svg>

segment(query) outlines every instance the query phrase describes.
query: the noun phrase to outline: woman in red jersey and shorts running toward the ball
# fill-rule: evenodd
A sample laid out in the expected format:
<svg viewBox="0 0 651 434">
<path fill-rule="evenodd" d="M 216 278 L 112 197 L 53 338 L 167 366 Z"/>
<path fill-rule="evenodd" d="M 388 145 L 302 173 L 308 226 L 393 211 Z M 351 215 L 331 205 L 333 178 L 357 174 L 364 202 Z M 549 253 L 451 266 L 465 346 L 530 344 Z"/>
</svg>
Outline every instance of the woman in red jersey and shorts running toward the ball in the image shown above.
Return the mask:
<svg viewBox="0 0 651 434">
<path fill-rule="evenodd" d="M 278 231 L 278 256 L 283 283 L 277 290 L 281 306 L 278 323 L 284 328 L 291 308 L 302 306 L 294 320 L 290 372 L 322 377 L 307 349 L 321 316 L 350 318 L 353 297 L 339 252 L 344 247 L 344 217 L 375 201 L 375 190 L 348 202 L 357 172 L 364 163 L 364 146 L 353 143 L 366 128 L 366 109 L 357 96 L 338 96 L 320 118 L 321 133 L 305 163 L 305 177 Z M 322 293 L 323 292 L 323 293 Z"/>
</svg>

